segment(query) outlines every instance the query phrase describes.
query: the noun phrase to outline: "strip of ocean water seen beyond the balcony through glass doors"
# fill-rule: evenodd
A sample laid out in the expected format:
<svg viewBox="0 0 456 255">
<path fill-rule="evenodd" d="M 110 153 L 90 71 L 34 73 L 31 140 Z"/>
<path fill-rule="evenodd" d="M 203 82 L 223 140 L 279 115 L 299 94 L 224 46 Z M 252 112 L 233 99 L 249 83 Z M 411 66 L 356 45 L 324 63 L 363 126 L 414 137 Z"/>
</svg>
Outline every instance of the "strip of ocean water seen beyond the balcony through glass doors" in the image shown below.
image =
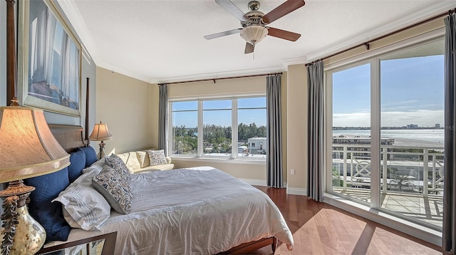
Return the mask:
<svg viewBox="0 0 456 255">
<path fill-rule="evenodd" d="M 333 136 L 338 135 L 360 135 L 369 136 L 371 130 L 333 130 Z M 445 140 L 444 129 L 400 129 L 400 130 L 380 130 L 382 138 L 394 138 L 398 141 L 416 141 L 432 142 L 435 144 L 442 144 Z"/>
</svg>

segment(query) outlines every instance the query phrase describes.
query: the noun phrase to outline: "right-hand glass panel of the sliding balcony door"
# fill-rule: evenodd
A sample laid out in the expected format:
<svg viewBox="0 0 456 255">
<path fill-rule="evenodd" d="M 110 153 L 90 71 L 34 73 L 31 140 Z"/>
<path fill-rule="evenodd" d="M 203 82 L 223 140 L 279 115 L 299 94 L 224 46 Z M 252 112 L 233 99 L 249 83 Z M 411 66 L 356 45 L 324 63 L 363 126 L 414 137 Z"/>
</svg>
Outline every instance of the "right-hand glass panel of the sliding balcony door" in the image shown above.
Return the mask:
<svg viewBox="0 0 456 255">
<path fill-rule="evenodd" d="M 444 71 L 442 41 L 380 58 L 380 207 L 442 227 Z"/>
</svg>

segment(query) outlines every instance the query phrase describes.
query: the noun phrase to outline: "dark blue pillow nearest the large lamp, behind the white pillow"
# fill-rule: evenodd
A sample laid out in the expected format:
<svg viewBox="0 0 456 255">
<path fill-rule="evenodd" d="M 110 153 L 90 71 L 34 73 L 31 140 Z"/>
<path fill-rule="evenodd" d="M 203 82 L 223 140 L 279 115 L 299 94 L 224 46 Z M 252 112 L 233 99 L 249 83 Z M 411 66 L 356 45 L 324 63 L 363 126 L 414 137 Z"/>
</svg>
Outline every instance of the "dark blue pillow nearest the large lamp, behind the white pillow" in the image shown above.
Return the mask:
<svg viewBox="0 0 456 255">
<path fill-rule="evenodd" d="M 51 201 L 70 184 L 68 168 L 65 167 L 52 174 L 24 179 L 24 183 L 36 188 L 30 194 L 28 211 L 31 217 L 46 230 L 46 242 L 66 241 L 71 227 L 63 218 L 62 204 Z"/>
</svg>

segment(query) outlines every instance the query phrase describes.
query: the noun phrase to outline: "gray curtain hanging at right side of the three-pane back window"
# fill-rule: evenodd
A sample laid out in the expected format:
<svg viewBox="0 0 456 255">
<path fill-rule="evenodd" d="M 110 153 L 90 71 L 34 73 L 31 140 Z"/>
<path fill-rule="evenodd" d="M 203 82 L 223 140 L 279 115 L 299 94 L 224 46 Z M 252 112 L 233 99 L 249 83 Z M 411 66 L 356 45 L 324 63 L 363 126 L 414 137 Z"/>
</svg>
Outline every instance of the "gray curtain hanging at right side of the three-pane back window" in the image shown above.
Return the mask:
<svg viewBox="0 0 456 255">
<path fill-rule="evenodd" d="M 267 184 L 281 188 L 282 174 L 282 127 L 281 127 L 281 74 L 266 77 L 267 115 Z"/>
</svg>

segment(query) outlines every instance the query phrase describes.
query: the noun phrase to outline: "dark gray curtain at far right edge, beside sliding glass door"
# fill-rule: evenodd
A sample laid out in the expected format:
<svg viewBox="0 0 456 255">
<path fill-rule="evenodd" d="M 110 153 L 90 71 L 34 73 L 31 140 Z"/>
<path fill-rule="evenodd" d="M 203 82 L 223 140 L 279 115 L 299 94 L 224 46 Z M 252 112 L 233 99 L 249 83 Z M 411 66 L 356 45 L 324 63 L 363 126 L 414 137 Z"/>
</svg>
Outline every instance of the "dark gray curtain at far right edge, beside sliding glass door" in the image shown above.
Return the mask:
<svg viewBox="0 0 456 255">
<path fill-rule="evenodd" d="M 443 187 L 442 246 L 445 251 L 456 251 L 456 19 L 455 14 L 445 19 L 445 167 Z"/>
</svg>

